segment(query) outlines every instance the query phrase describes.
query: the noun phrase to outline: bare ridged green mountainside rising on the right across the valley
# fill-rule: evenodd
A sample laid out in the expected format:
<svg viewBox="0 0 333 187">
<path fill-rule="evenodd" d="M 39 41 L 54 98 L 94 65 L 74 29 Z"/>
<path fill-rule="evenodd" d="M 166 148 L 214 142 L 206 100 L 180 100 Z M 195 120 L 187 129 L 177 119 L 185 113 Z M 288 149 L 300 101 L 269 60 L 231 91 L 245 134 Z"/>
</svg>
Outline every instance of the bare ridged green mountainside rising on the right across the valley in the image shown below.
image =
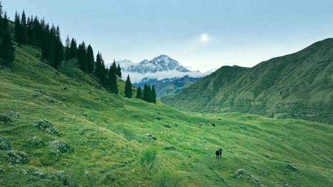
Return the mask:
<svg viewBox="0 0 333 187">
<path fill-rule="evenodd" d="M 333 38 L 253 68 L 222 67 L 161 101 L 185 111 L 241 112 L 333 124 Z"/>
</svg>

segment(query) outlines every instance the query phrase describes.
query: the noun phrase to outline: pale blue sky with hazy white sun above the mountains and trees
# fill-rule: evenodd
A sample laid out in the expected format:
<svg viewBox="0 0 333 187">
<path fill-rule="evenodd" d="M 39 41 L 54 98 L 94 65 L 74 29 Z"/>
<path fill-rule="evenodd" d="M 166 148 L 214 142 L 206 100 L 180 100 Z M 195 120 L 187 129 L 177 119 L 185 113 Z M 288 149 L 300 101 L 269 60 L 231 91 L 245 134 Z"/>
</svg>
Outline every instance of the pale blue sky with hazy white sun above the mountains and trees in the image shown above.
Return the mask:
<svg viewBox="0 0 333 187">
<path fill-rule="evenodd" d="M 205 71 L 252 67 L 333 37 L 333 0 L 2 0 L 45 17 L 106 62 L 160 54 Z"/>
</svg>

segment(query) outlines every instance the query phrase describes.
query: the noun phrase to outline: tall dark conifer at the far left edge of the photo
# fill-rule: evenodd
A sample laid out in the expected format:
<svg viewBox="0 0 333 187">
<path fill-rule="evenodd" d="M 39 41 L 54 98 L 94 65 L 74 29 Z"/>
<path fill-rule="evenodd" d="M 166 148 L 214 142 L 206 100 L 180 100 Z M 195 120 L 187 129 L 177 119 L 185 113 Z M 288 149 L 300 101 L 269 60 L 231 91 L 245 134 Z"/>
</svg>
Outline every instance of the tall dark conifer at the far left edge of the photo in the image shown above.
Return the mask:
<svg viewBox="0 0 333 187">
<path fill-rule="evenodd" d="M 15 60 L 15 48 L 13 47 L 12 38 L 8 30 L 8 19 L 6 13 L 2 20 L 2 26 L 6 28 L 6 30 L 3 33 L 0 44 L 0 62 L 8 65 L 13 63 Z"/>
</svg>

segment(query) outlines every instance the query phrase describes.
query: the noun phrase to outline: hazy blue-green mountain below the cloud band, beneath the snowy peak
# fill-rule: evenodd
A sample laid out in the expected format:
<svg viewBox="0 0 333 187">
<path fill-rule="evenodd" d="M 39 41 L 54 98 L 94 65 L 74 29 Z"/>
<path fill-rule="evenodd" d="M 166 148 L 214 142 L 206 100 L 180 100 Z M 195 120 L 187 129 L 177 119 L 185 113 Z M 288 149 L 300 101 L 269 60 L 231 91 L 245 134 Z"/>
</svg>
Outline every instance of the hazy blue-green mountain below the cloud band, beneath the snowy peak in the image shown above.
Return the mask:
<svg viewBox="0 0 333 187">
<path fill-rule="evenodd" d="M 185 75 L 184 77 L 173 77 L 157 80 L 156 78 L 149 79 L 148 77 L 142 79 L 139 83 L 134 83 L 135 86 L 143 87 L 145 84 L 155 85 L 156 96 L 162 97 L 167 94 L 179 93 L 183 91 L 185 87 L 192 85 L 199 81 L 200 77 L 190 77 Z"/>
</svg>

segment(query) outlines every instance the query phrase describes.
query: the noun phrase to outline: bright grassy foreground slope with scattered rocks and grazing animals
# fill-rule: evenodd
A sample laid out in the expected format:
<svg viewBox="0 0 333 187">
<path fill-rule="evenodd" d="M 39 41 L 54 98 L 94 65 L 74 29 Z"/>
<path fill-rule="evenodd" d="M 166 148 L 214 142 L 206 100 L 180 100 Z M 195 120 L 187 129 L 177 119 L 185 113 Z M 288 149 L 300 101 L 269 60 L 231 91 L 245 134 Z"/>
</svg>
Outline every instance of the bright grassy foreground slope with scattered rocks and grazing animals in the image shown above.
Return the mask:
<svg viewBox="0 0 333 187">
<path fill-rule="evenodd" d="M 332 125 L 181 112 L 110 94 L 93 77 L 81 71 L 70 77 L 39 56 L 38 48 L 16 46 L 12 67 L 0 68 L 0 113 L 14 111 L 11 121 L 1 118 L 0 147 L 6 137 L 13 150 L 27 155 L 26 163 L 15 164 L 11 150 L 0 150 L 1 187 L 156 187 L 179 178 L 182 187 L 333 184 Z M 212 89 L 216 86 L 221 85 Z M 59 134 L 34 126 L 39 119 L 50 121 Z M 218 147 L 222 159 L 215 158 Z M 150 169 L 141 159 L 154 149 Z"/>
</svg>

